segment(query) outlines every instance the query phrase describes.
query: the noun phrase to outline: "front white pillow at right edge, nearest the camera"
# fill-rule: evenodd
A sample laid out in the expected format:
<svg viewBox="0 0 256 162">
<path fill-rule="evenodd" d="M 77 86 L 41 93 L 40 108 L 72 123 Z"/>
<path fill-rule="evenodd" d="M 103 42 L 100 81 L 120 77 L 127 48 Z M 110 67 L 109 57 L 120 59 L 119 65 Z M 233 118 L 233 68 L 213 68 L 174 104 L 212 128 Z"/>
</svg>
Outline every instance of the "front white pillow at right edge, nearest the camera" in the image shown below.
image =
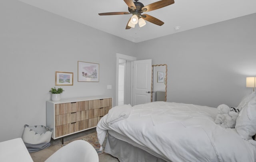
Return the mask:
<svg viewBox="0 0 256 162">
<path fill-rule="evenodd" d="M 244 139 L 251 139 L 256 134 L 256 97 L 251 99 L 240 111 L 235 128 Z"/>
</svg>

